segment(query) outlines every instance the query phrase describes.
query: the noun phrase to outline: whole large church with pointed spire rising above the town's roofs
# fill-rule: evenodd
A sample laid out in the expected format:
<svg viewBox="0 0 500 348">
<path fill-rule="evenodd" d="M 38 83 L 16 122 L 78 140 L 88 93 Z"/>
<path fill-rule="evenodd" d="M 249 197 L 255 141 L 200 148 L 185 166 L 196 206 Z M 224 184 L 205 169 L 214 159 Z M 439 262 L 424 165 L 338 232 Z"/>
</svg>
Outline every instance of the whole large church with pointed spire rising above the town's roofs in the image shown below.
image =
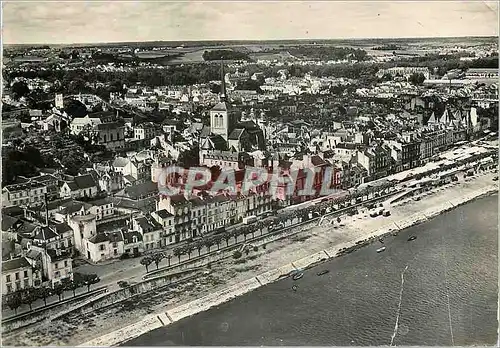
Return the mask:
<svg viewBox="0 0 500 348">
<path fill-rule="evenodd" d="M 203 126 L 200 133 L 200 165 L 219 166 L 221 169 L 240 169 L 253 165 L 249 152 L 265 150 L 264 132 L 253 121 L 240 122 L 239 111 L 227 98 L 221 63 L 220 100 L 210 110 L 210 126 Z"/>
</svg>

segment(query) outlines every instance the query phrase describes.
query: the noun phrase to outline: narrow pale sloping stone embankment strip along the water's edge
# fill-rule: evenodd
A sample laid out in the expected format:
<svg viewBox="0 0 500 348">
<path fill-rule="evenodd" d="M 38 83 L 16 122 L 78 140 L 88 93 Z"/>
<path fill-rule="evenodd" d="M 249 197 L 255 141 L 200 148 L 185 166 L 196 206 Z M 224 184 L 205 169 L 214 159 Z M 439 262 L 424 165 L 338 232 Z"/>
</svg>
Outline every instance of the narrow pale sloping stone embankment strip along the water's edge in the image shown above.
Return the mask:
<svg viewBox="0 0 500 348">
<path fill-rule="evenodd" d="M 382 236 L 387 233 L 391 233 L 395 230 L 402 230 L 404 228 L 408 228 L 410 226 L 422 223 L 430 219 L 431 217 L 439 215 L 442 212 L 451 210 L 458 205 L 467 203 L 475 198 L 494 192 L 498 192 L 498 187 L 496 185 L 489 185 L 487 187 L 483 187 L 470 194 L 465 194 L 458 199 L 454 199 L 452 201 L 445 201 L 443 202 L 443 204 L 428 209 L 425 212 L 419 212 L 411 215 L 410 217 L 403 218 L 395 223 L 388 224 L 387 226 L 384 226 L 376 231 L 367 233 L 362 238 L 351 241 L 349 243 L 345 243 L 340 247 L 354 246 L 356 245 L 357 242 L 366 241 L 370 238 L 377 236 Z M 299 259 L 290 264 L 265 272 L 261 275 L 258 275 L 257 277 L 253 277 L 249 280 L 240 282 L 238 284 L 234 284 L 226 289 L 214 292 L 200 299 L 181 305 L 177 308 L 167 311 L 166 313 L 145 318 L 138 323 L 129 325 L 123 329 L 116 330 L 107 335 L 95 338 L 84 344 L 81 344 L 80 346 L 109 347 L 109 346 L 116 346 L 123 344 L 126 341 L 136 338 L 150 330 L 154 330 L 161 326 L 169 325 L 180 319 L 192 316 L 202 311 L 206 311 L 211 307 L 218 306 L 224 302 L 234 299 L 235 297 L 241 296 L 247 292 L 255 290 L 263 285 L 272 283 L 282 278 L 283 276 L 290 274 L 290 272 L 292 272 L 293 270 L 297 270 L 298 268 L 306 268 L 307 266 L 316 264 L 318 263 L 318 261 L 321 261 L 323 259 L 336 257 L 339 255 L 339 252 L 340 252 L 339 245 L 330 249 L 323 250 L 319 253 L 311 255 L 310 257 Z M 310 263 L 308 264 L 308 262 Z"/>
</svg>

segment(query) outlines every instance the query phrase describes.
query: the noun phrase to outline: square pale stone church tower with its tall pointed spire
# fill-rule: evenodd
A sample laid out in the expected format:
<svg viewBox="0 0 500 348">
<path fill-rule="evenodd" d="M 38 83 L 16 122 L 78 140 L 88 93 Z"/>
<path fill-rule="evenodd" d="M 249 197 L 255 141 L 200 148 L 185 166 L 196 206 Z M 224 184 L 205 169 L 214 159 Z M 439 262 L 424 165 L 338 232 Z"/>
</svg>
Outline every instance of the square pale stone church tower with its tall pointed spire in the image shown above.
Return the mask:
<svg viewBox="0 0 500 348">
<path fill-rule="evenodd" d="M 229 134 L 236 128 L 238 117 L 228 103 L 224 63 L 221 61 L 221 91 L 219 103 L 210 110 L 210 131 L 212 134 L 222 136 L 226 141 Z"/>
</svg>

